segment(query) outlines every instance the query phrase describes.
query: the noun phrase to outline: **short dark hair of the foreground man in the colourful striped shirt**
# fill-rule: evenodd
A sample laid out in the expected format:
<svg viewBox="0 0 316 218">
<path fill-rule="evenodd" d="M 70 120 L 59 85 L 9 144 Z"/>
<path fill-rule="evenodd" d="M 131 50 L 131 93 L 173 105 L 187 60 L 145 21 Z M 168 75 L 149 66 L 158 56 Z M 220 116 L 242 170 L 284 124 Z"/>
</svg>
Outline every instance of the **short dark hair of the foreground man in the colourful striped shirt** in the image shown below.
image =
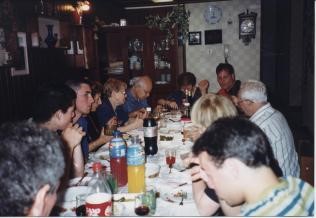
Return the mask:
<svg viewBox="0 0 316 218">
<path fill-rule="evenodd" d="M 192 151 L 206 151 L 220 167 L 227 158 L 237 158 L 248 167 L 268 166 L 281 176 L 266 134 L 253 122 L 240 117 L 220 118 L 195 142 Z"/>
</svg>

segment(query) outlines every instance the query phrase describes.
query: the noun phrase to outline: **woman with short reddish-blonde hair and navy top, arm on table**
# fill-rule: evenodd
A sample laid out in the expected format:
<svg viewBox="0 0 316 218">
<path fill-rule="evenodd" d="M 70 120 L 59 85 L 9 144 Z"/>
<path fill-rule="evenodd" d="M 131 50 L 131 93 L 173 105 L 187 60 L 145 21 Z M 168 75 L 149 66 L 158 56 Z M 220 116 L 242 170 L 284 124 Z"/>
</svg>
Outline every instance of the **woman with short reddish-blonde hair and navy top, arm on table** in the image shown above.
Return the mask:
<svg viewBox="0 0 316 218">
<path fill-rule="evenodd" d="M 126 98 L 126 88 L 126 83 L 118 79 L 110 78 L 106 81 L 103 86 L 104 98 L 96 111 L 99 126 L 105 127 L 111 119 L 116 120 L 117 129 L 122 132 L 143 126 L 143 119 L 129 119 L 128 113 L 122 107 Z"/>
</svg>

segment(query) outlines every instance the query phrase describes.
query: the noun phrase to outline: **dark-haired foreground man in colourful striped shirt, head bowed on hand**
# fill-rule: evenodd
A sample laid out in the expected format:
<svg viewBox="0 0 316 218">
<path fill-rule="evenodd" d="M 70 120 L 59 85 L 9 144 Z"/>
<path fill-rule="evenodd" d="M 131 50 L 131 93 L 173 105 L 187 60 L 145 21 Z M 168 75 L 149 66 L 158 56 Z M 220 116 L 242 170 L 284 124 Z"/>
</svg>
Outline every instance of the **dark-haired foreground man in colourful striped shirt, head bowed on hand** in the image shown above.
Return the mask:
<svg viewBox="0 0 316 218">
<path fill-rule="evenodd" d="M 314 189 L 278 167 L 264 132 L 235 117 L 215 121 L 192 148 L 199 174 L 214 189 L 224 213 L 240 207 L 240 216 L 313 216 Z"/>
</svg>

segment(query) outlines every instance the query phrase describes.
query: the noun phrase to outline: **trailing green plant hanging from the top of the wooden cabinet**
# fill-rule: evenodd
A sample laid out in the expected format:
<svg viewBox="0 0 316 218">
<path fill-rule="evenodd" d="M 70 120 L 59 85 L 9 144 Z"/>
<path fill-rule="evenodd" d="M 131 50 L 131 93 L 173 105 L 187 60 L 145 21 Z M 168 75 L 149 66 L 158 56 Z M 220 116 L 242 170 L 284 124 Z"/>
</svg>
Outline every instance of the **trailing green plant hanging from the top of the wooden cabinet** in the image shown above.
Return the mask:
<svg viewBox="0 0 316 218">
<path fill-rule="evenodd" d="M 171 12 L 168 12 L 165 17 L 159 15 L 149 15 L 146 19 L 146 25 L 149 28 L 157 28 L 166 33 L 166 39 L 173 42 L 174 34 L 172 29 L 177 28 L 178 40 L 180 43 L 185 43 L 189 35 L 189 17 L 190 12 L 186 11 L 184 6 L 175 6 Z"/>
</svg>

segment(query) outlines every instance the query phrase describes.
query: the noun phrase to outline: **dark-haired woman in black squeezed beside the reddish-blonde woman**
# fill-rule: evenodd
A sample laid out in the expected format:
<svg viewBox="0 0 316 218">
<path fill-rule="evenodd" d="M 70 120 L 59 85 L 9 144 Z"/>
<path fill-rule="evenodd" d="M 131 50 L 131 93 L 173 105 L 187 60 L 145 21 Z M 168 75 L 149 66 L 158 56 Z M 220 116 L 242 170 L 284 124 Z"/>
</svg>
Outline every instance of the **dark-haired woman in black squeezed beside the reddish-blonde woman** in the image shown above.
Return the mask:
<svg viewBox="0 0 316 218">
<path fill-rule="evenodd" d="M 88 121 L 88 132 L 87 135 L 89 137 L 89 151 L 94 151 L 98 149 L 101 145 L 109 142 L 112 136 L 108 136 L 104 134 L 104 127 L 99 126 L 96 110 L 99 105 L 102 104 L 101 95 L 103 86 L 100 82 L 91 81 L 91 95 L 93 97 L 94 102 L 91 105 L 90 113 L 87 115 Z M 112 120 L 108 121 L 108 124 L 111 123 Z"/>
</svg>

